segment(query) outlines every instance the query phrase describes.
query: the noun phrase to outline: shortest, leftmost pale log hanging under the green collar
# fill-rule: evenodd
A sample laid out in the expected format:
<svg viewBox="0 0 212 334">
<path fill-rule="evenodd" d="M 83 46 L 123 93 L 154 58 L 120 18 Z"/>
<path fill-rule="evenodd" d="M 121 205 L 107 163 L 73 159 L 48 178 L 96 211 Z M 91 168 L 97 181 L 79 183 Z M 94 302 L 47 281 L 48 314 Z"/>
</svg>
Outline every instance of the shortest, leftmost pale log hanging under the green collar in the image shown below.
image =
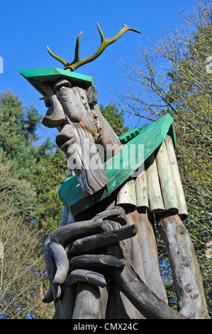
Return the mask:
<svg viewBox="0 0 212 334">
<path fill-rule="evenodd" d="M 121 186 L 118 191 L 116 205 L 137 207 L 136 192 L 135 192 L 135 180 L 130 178 Z"/>
</svg>

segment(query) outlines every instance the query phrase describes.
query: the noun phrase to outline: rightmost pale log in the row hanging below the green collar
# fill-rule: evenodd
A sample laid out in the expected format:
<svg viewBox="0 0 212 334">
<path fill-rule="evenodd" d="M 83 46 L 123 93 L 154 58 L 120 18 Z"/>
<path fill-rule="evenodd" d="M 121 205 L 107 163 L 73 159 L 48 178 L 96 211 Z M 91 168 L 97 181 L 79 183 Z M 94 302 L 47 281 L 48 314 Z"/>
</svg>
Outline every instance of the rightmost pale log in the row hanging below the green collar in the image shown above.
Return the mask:
<svg viewBox="0 0 212 334">
<path fill-rule="evenodd" d="M 172 171 L 172 179 L 174 182 L 174 187 L 177 193 L 177 204 L 179 209 L 179 217 L 181 217 L 182 220 L 186 219 L 188 216 L 187 208 L 186 208 L 186 200 L 184 196 L 184 190 L 182 188 L 182 182 L 179 175 L 179 168 L 177 164 L 177 158 L 174 151 L 174 144 L 172 141 L 171 136 L 166 136 L 165 138 L 165 144 L 167 147 L 167 154 L 169 157 L 169 164 Z"/>
</svg>

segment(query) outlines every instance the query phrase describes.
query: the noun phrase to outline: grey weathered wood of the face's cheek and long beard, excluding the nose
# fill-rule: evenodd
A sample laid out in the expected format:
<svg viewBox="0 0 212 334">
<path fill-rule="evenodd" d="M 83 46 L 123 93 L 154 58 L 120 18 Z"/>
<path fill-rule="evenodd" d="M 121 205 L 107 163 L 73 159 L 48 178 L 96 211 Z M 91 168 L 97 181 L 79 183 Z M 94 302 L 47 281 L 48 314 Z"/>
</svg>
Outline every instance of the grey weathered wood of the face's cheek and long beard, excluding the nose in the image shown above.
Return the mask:
<svg viewBox="0 0 212 334">
<path fill-rule="evenodd" d="M 60 83 L 60 82 L 59 82 Z M 59 85 L 57 83 L 57 85 Z M 67 124 L 57 135 L 56 142 L 65 151 L 69 168 L 74 171 L 85 196 L 92 195 L 108 183 L 108 178 L 99 157 L 94 141 L 99 137 L 94 114 L 87 102 L 87 92 L 79 87 L 59 85 L 57 97 L 60 100 Z M 69 133 L 67 126 L 72 128 L 72 142 L 67 143 Z"/>
</svg>

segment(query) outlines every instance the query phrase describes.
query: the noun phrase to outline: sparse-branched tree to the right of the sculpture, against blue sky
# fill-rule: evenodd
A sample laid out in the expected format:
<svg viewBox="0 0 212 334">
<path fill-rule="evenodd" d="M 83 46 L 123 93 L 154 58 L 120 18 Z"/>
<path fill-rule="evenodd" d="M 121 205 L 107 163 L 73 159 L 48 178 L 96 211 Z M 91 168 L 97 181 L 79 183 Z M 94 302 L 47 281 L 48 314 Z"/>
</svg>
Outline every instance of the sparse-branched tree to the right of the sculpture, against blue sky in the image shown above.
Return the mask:
<svg viewBox="0 0 212 334">
<path fill-rule="evenodd" d="M 194 1 L 184 26 L 166 33 L 151 48 L 139 45 L 138 63 L 121 67 L 128 78 L 124 94 L 116 93 L 123 112 L 146 124 L 169 112 L 177 133 L 177 159 L 186 195 L 191 233 L 211 313 L 211 264 L 206 243 L 211 238 L 211 0 Z M 133 90 L 131 89 L 133 83 Z M 160 243 L 161 245 L 161 243 Z M 161 259 L 166 257 L 160 247 Z M 164 265 L 164 262 L 162 260 Z"/>
</svg>

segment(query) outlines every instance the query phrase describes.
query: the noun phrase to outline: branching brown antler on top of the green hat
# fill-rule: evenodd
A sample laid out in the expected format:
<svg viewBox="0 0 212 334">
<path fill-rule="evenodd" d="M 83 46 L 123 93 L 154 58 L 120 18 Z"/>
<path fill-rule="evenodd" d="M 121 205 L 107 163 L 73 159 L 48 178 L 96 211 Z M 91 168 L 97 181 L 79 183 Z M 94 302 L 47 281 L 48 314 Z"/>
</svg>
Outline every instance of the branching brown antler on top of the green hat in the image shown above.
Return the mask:
<svg viewBox="0 0 212 334">
<path fill-rule="evenodd" d="M 140 33 L 140 31 L 138 31 L 134 28 L 129 28 L 126 24 L 123 24 L 123 28 L 121 29 L 121 31 L 119 31 L 116 34 L 116 36 L 106 39 L 104 37 L 104 33 L 101 31 L 99 23 L 97 23 L 97 27 L 99 29 L 99 33 L 100 33 L 100 36 L 101 36 L 101 45 L 99 46 L 99 49 L 96 50 L 94 55 L 91 55 L 90 57 L 84 58 L 84 59 L 79 58 L 79 40 L 80 40 L 80 37 L 82 35 L 82 32 L 79 33 L 79 35 L 77 37 L 77 43 L 76 43 L 76 47 L 75 47 L 75 56 L 74 56 L 74 60 L 72 61 L 72 63 L 67 63 L 66 60 L 64 60 L 64 59 L 60 58 L 58 55 L 55 55 L 54 53 L 52 53 L 52 51 L 50 51 L 49 47 L 47 47 L 48 52 L 50 53 L 50 55 L 52 55 L 52 57 L 59 60 L 60 63 L 65 65 L 65 70 L 71 70 L 73 72 L 74 70 L 77 70 L 77 68 L 79 68 L 80 66 L 82 66 L 84 64 L 87 64 L 87 63 L 90 63 L 91 61 L 93 61 L 94 59 L 99 57 L 99 55 L 101 55 L 101 53 L 103 53 L 103 51 L 106 49 L 106 47 L 108 45 L 116 42 L 118 40 L 118 38 L 121 38 L 121 36 L 123 36 L 123 34 L 126 31 L 135 31 L 135 33 Z"/>
</svg>

